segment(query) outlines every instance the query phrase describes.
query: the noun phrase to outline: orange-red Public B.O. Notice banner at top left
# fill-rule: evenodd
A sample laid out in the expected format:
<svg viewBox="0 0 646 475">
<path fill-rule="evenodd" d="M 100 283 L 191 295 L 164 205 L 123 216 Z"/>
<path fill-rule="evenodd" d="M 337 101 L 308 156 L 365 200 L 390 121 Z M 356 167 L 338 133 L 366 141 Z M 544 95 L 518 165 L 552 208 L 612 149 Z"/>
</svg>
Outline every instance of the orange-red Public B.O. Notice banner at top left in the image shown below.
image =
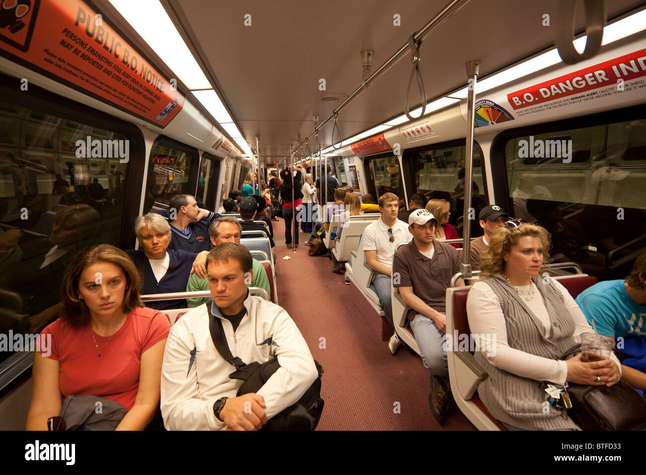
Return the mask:
<svg viewBox="0 0 646 475">
<path fill-rule="evenodd" d="M 1 56 L 158 127 L 182 109 L 176 82 L 164 78 L 81 0 L 14 4 L 16 19 L 0 34 Z"/>
</svg>

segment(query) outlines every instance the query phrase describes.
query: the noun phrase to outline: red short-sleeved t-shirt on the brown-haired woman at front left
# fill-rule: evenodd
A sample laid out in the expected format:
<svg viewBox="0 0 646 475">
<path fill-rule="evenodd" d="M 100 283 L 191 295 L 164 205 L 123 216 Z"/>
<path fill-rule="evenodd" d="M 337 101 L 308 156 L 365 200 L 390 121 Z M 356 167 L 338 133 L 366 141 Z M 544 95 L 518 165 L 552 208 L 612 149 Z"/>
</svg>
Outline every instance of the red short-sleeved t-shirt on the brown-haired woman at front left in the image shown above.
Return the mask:
<svg viewBox="0 0 646 475">
<path fill-rule="evenodd" d="M 134 406 L 139 389 L 141 354 L 168 336 L 171 324 L 161 311 L 135 308 L 112 337 L 92 332 L 90 321 L 71 326 L 61 319 L 50 323 L 43 335 L 51 334 L 51 354 L 59 362 L 59 387 L 63 398 L 76 395 L 105 397 L 127 410 Z M 94 339 L 92 334 L 94 333 Z M 101 350 L 99 357 L 99 350 Z M 50 350 L 40 346 L 41 354 Z"/>
</svg>

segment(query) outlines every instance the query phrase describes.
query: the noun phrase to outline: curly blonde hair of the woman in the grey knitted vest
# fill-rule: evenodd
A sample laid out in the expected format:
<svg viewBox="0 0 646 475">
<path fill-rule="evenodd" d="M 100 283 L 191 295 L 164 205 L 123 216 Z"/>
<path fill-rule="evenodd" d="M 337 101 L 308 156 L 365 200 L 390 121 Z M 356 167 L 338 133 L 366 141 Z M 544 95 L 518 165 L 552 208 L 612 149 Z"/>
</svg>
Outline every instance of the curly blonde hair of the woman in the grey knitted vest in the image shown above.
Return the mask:
<svg viewBox="0 0 646 475">
<path fill-rule="evenodd" d="M 543 246 L 543 262 L 550 258 L 550 233 L 542 226 L 524 223 L 518 227 L 499 227 L 491 237 L 489 247 L 480 252 L 481 275 L 494 275 L 505 273 L 505 260 L 503 254 L 509 253 L 513 246 L 518 244 L 521 237 L 530 236 L 538 238 Z"/>
</svg>

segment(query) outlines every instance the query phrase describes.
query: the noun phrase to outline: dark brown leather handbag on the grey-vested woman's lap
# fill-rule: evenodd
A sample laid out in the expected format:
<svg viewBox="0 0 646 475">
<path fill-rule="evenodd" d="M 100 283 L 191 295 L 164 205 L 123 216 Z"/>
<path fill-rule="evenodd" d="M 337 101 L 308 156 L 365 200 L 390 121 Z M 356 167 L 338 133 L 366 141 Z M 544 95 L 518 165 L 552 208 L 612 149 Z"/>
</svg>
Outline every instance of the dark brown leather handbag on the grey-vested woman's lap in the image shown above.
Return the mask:
<svg viewBox="0 0 646 475">
<path fill-rule="evenodd" d="M 581 351 L 581 345 L 570 348 L 567 360 Z M 572 407 L 567 415 L 583 430 L 644 430 L 646 401 L 624 381 L 608 386 L 570 384 L 567 390 Z"/>
</svg>

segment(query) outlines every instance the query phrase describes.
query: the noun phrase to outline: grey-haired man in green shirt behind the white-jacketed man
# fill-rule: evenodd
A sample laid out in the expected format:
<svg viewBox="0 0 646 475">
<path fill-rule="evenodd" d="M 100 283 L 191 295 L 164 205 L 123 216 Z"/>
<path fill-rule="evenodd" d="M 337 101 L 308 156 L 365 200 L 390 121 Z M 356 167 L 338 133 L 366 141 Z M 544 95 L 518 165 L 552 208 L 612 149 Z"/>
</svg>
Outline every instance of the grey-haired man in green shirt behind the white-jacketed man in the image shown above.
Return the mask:
<svg viewBox="0 0 646 475">
<path fill-rule="evenodd" d="M 242 226 L 233 216 L 224 216 L 218 218 L 209 226 L 209 236 L 211 237 L 211 244 L 213 246 L 220 246 L 225 242 L 235 242 L 240 244 L 240 235 L 242 234 Z M 269 279 L 265 268 L 260 264 L 260 261 L 253 259 L 253 268 L 251 282 L 247 281 L 249 287 L 260 287 L 267 291 L 267 295 L 271 297 L 271 290 L 269 290 Z M 196 273 L 191 274 L 189 283 L 186 285 L 187 292 L 195 292 L 199 290 L 209 290 L 209 280 L 198 277 Z M 203 297 L 197 299 L 186 299 L 189 307 L 198 307 L 204 303 L 213 301 L 212 297 Z"/>
</svg>

